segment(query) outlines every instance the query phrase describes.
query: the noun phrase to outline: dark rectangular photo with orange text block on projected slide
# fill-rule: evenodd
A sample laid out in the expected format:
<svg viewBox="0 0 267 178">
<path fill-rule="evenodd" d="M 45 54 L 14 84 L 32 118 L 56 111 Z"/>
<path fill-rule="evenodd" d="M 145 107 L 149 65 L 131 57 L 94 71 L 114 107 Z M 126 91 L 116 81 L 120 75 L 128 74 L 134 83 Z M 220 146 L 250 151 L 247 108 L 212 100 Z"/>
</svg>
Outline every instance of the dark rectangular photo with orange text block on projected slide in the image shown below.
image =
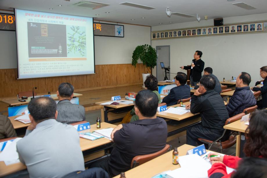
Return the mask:
<svg viewBox="0 0 267 178">
<path fill-rule="evenodd" d="M 29 57 L 67 57 L 66 25 L 28 22 Z"/>
</svg>

